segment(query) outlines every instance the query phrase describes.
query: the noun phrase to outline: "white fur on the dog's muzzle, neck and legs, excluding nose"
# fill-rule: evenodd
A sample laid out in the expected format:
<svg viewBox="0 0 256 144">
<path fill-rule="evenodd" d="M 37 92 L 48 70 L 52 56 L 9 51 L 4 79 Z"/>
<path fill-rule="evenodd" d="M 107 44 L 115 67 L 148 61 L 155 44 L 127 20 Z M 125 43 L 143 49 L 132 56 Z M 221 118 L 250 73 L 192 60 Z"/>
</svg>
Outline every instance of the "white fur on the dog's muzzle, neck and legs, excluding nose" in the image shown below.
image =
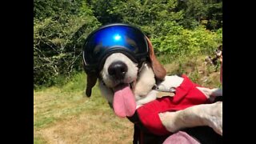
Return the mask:
<svg viewBox="0 0 256 144">
<path fill-rule="evenodd" d="M 108 67 L 112 62 L 122 61 L 128 66 L 126 76 L 122 80 L 116 80 L 108 74 Z M 133 93 L 136 99 L 137 108 L 146 104 L 147 102 L 156 99 L 158 91 L 152 90 L 155 85 L 154 71 L 149 62 L 145 62 L 142 68 L 138 69 L 138 64 L 126 57 L 125 54 L 115 53 L 106 58 L 106 62 L 100 72 L 101 78 L 99 79 L 99 88 L 102 95 L 113 103 L 114 86 L 121 83 L 132 83 Z M 183 78 L 177 75 L 166 76 L 158 86 L 165 88 L 178 87 L 181 85 Z M 207 98 L 214 99 L 216 96 L 222 95 L 222 90 L 207 89 L 197 87 L 202 93 L 206 94 Z M 159 114 L 162 124 L 166 126 L 166 130 L 176 132 L 182 128 L 194 126 L 210 126 L 218 134 L 222 135 L 222 102 L 215 102 L 212 104 L 202 104 L 198 106 L 191 106 L 185 110 L 175 112 L 165 112 Z"/>
</svg>

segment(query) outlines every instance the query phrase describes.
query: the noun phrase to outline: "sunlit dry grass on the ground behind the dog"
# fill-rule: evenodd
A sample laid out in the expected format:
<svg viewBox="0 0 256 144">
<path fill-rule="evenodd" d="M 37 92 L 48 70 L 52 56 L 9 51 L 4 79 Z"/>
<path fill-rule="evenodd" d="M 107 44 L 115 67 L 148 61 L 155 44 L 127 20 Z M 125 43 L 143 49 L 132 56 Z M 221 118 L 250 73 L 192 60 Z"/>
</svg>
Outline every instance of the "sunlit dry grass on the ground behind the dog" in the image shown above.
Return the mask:
<svg viewBox="0 0 256 144">
<path fill-rule="evenodd" d="M 220 86 L 219 69 L 204 66 L 203 58 L 177 59 L 166 65 L 168 74 L 187 74 L 202 86 Z M 86 74 L 78 73 L 65 85 L 34 90 L 34 143 L 131 143 L 133 125 L 118 118 L 98 86 L 84 94 Z"/>
</svg>

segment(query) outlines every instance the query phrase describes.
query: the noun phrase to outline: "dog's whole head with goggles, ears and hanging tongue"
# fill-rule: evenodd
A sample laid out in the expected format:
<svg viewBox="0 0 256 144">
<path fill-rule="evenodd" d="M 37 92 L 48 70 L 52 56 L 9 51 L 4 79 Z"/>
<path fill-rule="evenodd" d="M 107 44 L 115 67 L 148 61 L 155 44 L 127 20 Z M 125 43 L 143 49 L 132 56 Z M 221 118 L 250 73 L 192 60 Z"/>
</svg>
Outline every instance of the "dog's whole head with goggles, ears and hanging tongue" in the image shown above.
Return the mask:
<svg viewBox="0 0 256 144">
<path fill-rule="evenodd" d="M 120 26 L 125 32 L 119 29 Z M 90 34 L 84 46 L 86 95 L 90 97 L 99 79 L 102 95 L 111 103 L 115 114 L 131 116 L 136 110 L 134 92 L 143 93 L 143 90 L 138 90 L 141 87 L 149 92 L 155 79 L 165 78 L 166 70 L 155 57 L 149 38 L 134 26 L 114 24 L 103 26 L 105 31 L 101 30 Z"/>
</svg>

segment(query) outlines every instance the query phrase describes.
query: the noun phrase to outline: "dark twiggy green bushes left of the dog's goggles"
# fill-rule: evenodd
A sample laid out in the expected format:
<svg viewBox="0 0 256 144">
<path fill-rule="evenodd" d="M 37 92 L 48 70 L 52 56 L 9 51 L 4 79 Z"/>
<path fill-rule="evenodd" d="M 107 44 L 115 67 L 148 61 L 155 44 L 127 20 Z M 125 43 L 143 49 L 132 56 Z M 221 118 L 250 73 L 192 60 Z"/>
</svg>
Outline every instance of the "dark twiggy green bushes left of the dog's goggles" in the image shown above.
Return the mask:
<svg viewBox="0 0 256 144">
<path fill-rule="evenodd" d="M 58 3 L 56 7 L 52 2 Z M 100 23 L 85 2 L 34 4 L 34 86 L 52 86 L 59 75 L 70 77 L 82 70 L 82 44 Z"/>
</svg>

